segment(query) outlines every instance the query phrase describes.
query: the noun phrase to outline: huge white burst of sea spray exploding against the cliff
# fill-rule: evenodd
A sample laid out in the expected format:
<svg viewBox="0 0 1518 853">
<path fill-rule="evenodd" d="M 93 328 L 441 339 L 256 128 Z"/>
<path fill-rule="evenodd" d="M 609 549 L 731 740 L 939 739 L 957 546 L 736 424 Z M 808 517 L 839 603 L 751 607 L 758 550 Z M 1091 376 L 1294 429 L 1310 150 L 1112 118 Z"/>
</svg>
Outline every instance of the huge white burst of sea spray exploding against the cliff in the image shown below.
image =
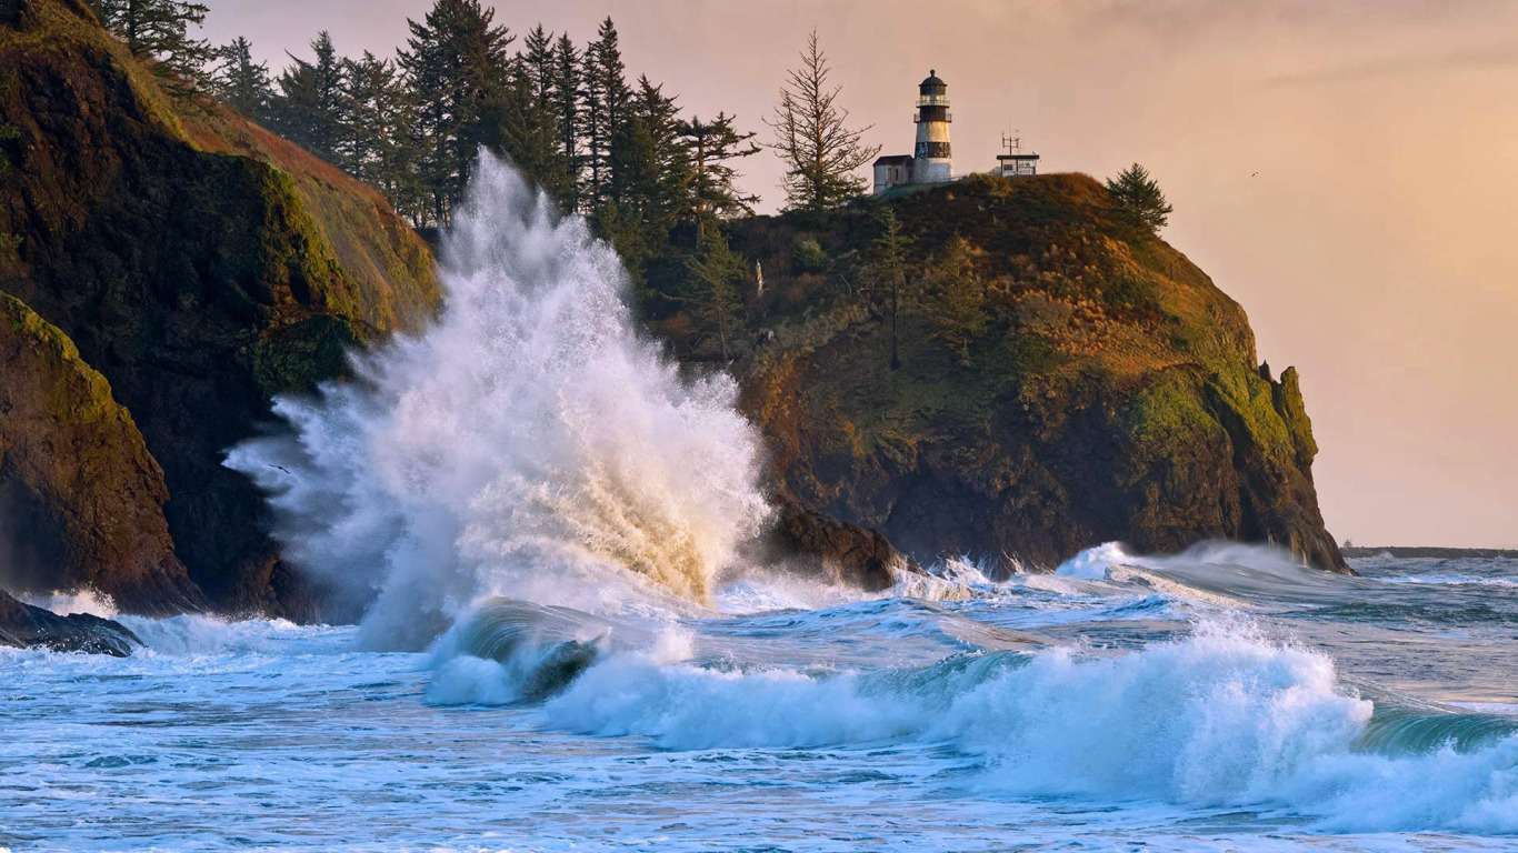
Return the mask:
<svg viewBox="0 0 1518 853">
<path fill-rule="evenodd" d="M 638 337 L 612 249 L 487 155 L 440 279 L 422 337 L 276 401 L 290 433 L 228 455 L 269 493 L 287 559 L 370 601 L 380 648 L 430 642 L 484 595 L 704 601 L 768 516 L 733 381 L 683 381 Z"/>
</svg>

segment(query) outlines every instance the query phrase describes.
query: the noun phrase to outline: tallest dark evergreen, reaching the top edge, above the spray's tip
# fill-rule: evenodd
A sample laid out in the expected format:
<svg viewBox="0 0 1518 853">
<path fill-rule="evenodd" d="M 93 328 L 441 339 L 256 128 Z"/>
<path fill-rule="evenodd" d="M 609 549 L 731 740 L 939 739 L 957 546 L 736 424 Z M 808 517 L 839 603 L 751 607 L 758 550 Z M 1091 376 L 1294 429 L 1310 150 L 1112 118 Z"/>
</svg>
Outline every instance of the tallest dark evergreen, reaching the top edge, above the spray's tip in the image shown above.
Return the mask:
<svg viewBox="0 0 1518 853">
<path fill-rule="evenodd" d="M 487 141 L 486 103 L 509 80 L 507 47 L 516 36 L 495 26 L 495 9 L 480 0 L 437 0 L 399 53 L 416 99 L 416 127 L 427 141 L 420 182 L 433 197 L 433 222 L 446 225 L 469 185 L 478 149 Z"/>
</svg>

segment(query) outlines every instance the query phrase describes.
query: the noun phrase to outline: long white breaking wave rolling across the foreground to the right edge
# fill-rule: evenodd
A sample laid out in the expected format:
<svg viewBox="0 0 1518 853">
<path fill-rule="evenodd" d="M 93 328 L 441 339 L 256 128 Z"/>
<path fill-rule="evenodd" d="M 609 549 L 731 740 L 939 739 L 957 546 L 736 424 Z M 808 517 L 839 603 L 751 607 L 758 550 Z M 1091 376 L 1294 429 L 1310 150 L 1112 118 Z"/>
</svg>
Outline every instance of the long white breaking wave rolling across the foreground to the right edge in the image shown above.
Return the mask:
<svg viewBox="0 0 1518 853">
<path fill-rule="evenodd" d="M 434 672 L 433 701 L 518 703 L 540 677 L 458 660 Z M 1518 832 L 1518 721 L 1383 707 L 1343 686 L 1328 656 L 1239 618 L 1128 654 L 987 651 L 871 672 L 745 666 L 674 633 L 603 645 L 540 698 L 545 727 L 668 750 L 937 744 L 979 768 L 982 792 L 1281 809 L 1337 830 Z"/>
</svg>

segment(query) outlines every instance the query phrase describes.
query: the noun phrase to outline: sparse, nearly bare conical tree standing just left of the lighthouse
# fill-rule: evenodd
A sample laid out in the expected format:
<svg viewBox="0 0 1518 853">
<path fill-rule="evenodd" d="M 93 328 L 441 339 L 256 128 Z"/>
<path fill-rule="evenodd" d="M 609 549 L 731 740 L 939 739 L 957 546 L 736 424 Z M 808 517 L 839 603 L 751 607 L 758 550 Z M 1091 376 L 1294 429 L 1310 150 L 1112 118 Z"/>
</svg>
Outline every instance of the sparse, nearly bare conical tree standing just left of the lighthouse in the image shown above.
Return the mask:
<svg viewBox="0 0 1518 853">
<path fill-rule="evenodd" d="M 849 129 L 849 111 L 838 106 L 842 87 L 829 88 L 830 73 L 812 30 L 802 65 L 789 73 L 774 117 L 765 121 L 774 129 L 770 147 L 785 161 L 785 194 L 792 209 L 823 211 L 858 196 L 867 182 L 855 170 L 880 153 L 880 146 L 861 143 L 873 124 Z"/>
</svg>

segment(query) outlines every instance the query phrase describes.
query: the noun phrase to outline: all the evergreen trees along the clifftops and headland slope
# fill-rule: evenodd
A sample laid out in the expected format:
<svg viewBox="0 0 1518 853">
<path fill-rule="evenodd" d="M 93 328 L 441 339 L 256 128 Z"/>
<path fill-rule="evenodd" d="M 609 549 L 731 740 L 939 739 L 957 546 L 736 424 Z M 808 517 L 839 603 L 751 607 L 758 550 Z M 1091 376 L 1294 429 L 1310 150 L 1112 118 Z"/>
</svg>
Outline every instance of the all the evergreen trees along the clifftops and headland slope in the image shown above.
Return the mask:
<svg viewBox="0 0 1518 853">
<path fill-rule="evenodd" d="M 340 56 L 323 30 L 308 58 L 290 55 L 273 74 L 246 38 L 222 47 L 193 38 L 208 14 L 202 3 L 93 3 L 187 103 L 211 96 L 269 126 L 381 190 L 417 228 L 449 223 L 480 149 L 509 156 L 563 212 L 583 214 L 616 247 L 645 308 L 689 313 L 729 357 L 759 281 L 715 225 L 759 202 L 739 187 L 738 165 L 761 144 L 726 111 L 686 115 L 662 83 L 630 80 L 612 18 L 581 46 L 542 24 L 518 38 L 480 0 L 436 0 L 422 20 L 407 21 L 410 36 L 393 58 Z M 821 212 L 858 197 L 868 188 L 858 170 L 879 153 L 862 141 L 870 127 L 850 126 L 829 74 L 814 32 L 764 118 L 773 131 L 765 147 L 786 164 L 791 209 Z M 1134 228 L 1166 223 L 1169 205 L 1137 164 L 1108 188 Z M 880 217 L 880 237 L 855 272 L 861 297 L 890 320 L 893 369 L 903 311 L 924 314 L 968 366 L 970 342 L 985 323 L 978 249 L 956 238 L 914 264 L 911 238 L 888 208 Z M 803 266 L 811 247 L 797 246 Z M 656 260 L 672 260 L 674 273 L 648 276 Z"/>
</svg>

